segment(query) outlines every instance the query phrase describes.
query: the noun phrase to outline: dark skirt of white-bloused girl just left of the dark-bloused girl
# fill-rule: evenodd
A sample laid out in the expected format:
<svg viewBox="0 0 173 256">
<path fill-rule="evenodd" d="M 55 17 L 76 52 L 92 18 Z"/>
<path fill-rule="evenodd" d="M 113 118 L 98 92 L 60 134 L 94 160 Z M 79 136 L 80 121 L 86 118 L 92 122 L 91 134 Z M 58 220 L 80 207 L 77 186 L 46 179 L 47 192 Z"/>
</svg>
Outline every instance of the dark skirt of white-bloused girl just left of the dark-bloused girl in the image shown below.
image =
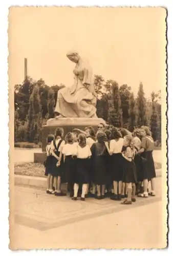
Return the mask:
<svg viewBox="0 0 173 256">
<path fill-rule="evenodd" d="M 90 182 L 90 159 L 75 160 L 74 183 L 88 184 Z"/>
</svg>

